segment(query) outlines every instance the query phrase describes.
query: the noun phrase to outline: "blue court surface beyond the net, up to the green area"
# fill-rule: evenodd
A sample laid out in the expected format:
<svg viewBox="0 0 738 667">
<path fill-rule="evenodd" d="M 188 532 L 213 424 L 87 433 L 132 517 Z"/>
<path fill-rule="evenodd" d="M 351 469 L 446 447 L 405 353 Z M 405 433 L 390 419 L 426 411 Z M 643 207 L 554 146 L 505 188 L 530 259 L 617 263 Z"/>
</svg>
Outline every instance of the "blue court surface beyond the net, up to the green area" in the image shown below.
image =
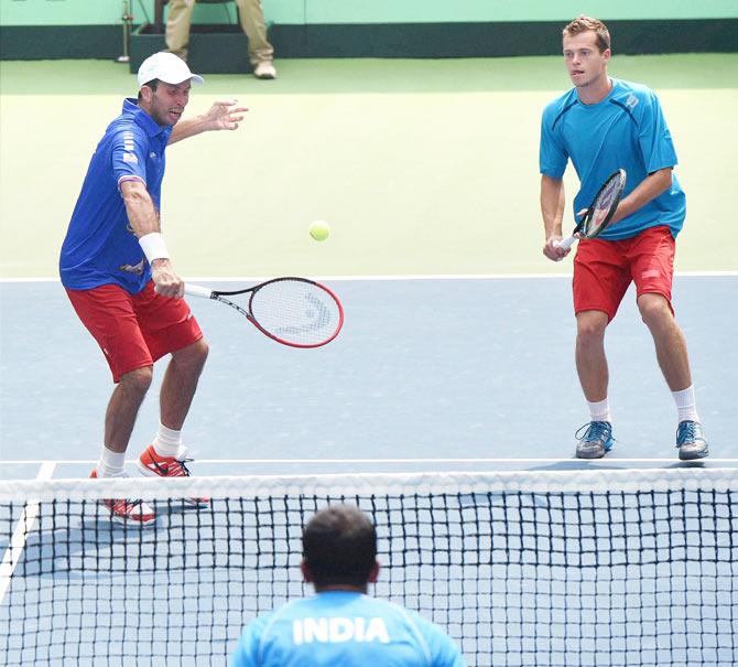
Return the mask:
<svg viewBox="0 0 738 667">
<path fill-rule="evenodd" d="M 192 302 L 211 345 L 185 431 L 196 459 L 215 460 L 197 464 L 198 474 L 217 474 L 219 460 L 245 461 L 243 473 L 281 473 L 478 470 L 510 459 L 530 467 L 534 460 L 562 465 L 573 456 L 574 431 L 587 413 L 573 367 L 566 278 L 328 283 L 345 303 L 346 324 L 336 341 L 314 351 L 274 344 L 221 306 Z M 735 275 L 675 281 L 710 442 L 707 464 L 735 458 L 737 288 Z M 87 465 L 98 454 L 111 390 L 105 361 L 58 283 L 3 282 L 0 290 L 4 474 L 35 476 L 33 464 L 12 461 Z M 709 316 L 707 294 L 723 304 Z M 600 465 L 621 459 L 626 466 L 637 459 L 669 465 L 676 462 L 673 401 L 633 301 L 629 293 L 608 334 L 618 442 Z M 156 397 L 152 387 L 131 447 L 152 438 Z M 64 463 L 55 474 L 85 472 Z"/>
</svg>

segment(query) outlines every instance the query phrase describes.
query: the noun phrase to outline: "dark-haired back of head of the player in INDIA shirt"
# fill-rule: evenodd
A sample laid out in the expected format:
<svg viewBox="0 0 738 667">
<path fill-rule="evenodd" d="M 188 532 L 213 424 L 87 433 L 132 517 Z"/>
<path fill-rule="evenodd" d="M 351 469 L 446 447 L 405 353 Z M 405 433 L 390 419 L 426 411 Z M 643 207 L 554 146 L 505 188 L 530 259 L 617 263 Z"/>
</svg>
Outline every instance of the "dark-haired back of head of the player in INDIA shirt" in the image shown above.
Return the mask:
<svg viewBox="0 0 738 667">
<path fill-rule="evenodd" d="M 326 507 L 303 530 L 303 558 L 317 587 L 365 587 L 377 560 L 375 525 L 352 505 Z"/>
</svg>

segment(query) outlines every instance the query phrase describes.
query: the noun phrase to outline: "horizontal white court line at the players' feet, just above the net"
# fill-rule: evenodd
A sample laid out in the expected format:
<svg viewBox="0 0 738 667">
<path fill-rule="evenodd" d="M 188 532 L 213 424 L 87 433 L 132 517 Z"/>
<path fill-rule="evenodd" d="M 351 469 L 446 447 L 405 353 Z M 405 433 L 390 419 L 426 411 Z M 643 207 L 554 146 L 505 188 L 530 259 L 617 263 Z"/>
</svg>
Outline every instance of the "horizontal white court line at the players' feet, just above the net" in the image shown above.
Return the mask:
<svg viewBox="0 0 738 667">
<path fill-rule="evenodd" d="M 130 459 L 127 463 L 133 463 L 135 459 Z M 577 462 L 587 462 L 586 459 L 576 459 L 574 456 L 567 459 L 195 459 L 195 463 L 228 463 L 228 464 L 274 464 L 274 465 L 284 465 L 290 463 L 314 463 L 316 465 L 323 463 L 382 463 L 382 464 L 393 464 L 393 463 L 571 463 L 572 461 Z M 662 458 L 662 459 L 592 459 L 592 463 L 685 463 L 680 461 L 675 456 Z M 3 465 L 37 465 L 37 464 L 51 464 L 51 465 L 66 465 L 66 464 L 85 464 L 90 465 L 97 463 L 97 459 L 59 459 L 56 461 L 37 461 L 37 460 L 18 460 L 18 461 L 8 461 L 3 460 Z M 686 462 L 690 463 L 690 462 Z M 699 459 L 697 461 L 692 461 L 691 463 L 729 463 L 738 464 L 738 459 Z"/>
</svg>

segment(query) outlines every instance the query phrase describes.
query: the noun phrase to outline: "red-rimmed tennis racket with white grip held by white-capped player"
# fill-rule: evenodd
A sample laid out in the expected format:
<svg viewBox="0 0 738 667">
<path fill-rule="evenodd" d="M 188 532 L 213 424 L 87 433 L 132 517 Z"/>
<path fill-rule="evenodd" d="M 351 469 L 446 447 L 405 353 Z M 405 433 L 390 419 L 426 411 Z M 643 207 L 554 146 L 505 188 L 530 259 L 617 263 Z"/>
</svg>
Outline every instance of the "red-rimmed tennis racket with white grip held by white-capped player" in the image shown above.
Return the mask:
<svg viewBox="0 0 738 667">
<path fill-rule="evenodd" d="M 185 284 L 185 294 L 230 305 L 272 341 L 291 347 L 330 343 L 344 325 L 344 308 L 338 297 L 306 278 L 274 278 L 232 292 Z M 248 294 L 243 306 L 226 298 L 239 294 Z"/>
</svg>

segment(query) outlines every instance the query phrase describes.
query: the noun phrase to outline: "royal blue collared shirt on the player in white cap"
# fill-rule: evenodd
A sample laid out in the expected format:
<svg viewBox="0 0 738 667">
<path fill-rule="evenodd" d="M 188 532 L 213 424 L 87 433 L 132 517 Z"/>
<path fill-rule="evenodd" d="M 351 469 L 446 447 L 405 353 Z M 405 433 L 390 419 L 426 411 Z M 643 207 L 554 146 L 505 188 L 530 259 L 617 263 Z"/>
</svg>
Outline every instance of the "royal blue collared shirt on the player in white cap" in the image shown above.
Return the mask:
<svg viewBox="0 0 738 667">
<path fill-rule="evenodd" d="M 164 149 L 171 133 L 171 127 L 160 127 L 135 99 L 124 100 L 121 115 L 97 144 L 72 214 L 59 258 L 64 287 L 88 290 L 119 284 L 135 294 L 151 279 L 120 184 L 142 181 L 159 212 Z"/>
</svg>

